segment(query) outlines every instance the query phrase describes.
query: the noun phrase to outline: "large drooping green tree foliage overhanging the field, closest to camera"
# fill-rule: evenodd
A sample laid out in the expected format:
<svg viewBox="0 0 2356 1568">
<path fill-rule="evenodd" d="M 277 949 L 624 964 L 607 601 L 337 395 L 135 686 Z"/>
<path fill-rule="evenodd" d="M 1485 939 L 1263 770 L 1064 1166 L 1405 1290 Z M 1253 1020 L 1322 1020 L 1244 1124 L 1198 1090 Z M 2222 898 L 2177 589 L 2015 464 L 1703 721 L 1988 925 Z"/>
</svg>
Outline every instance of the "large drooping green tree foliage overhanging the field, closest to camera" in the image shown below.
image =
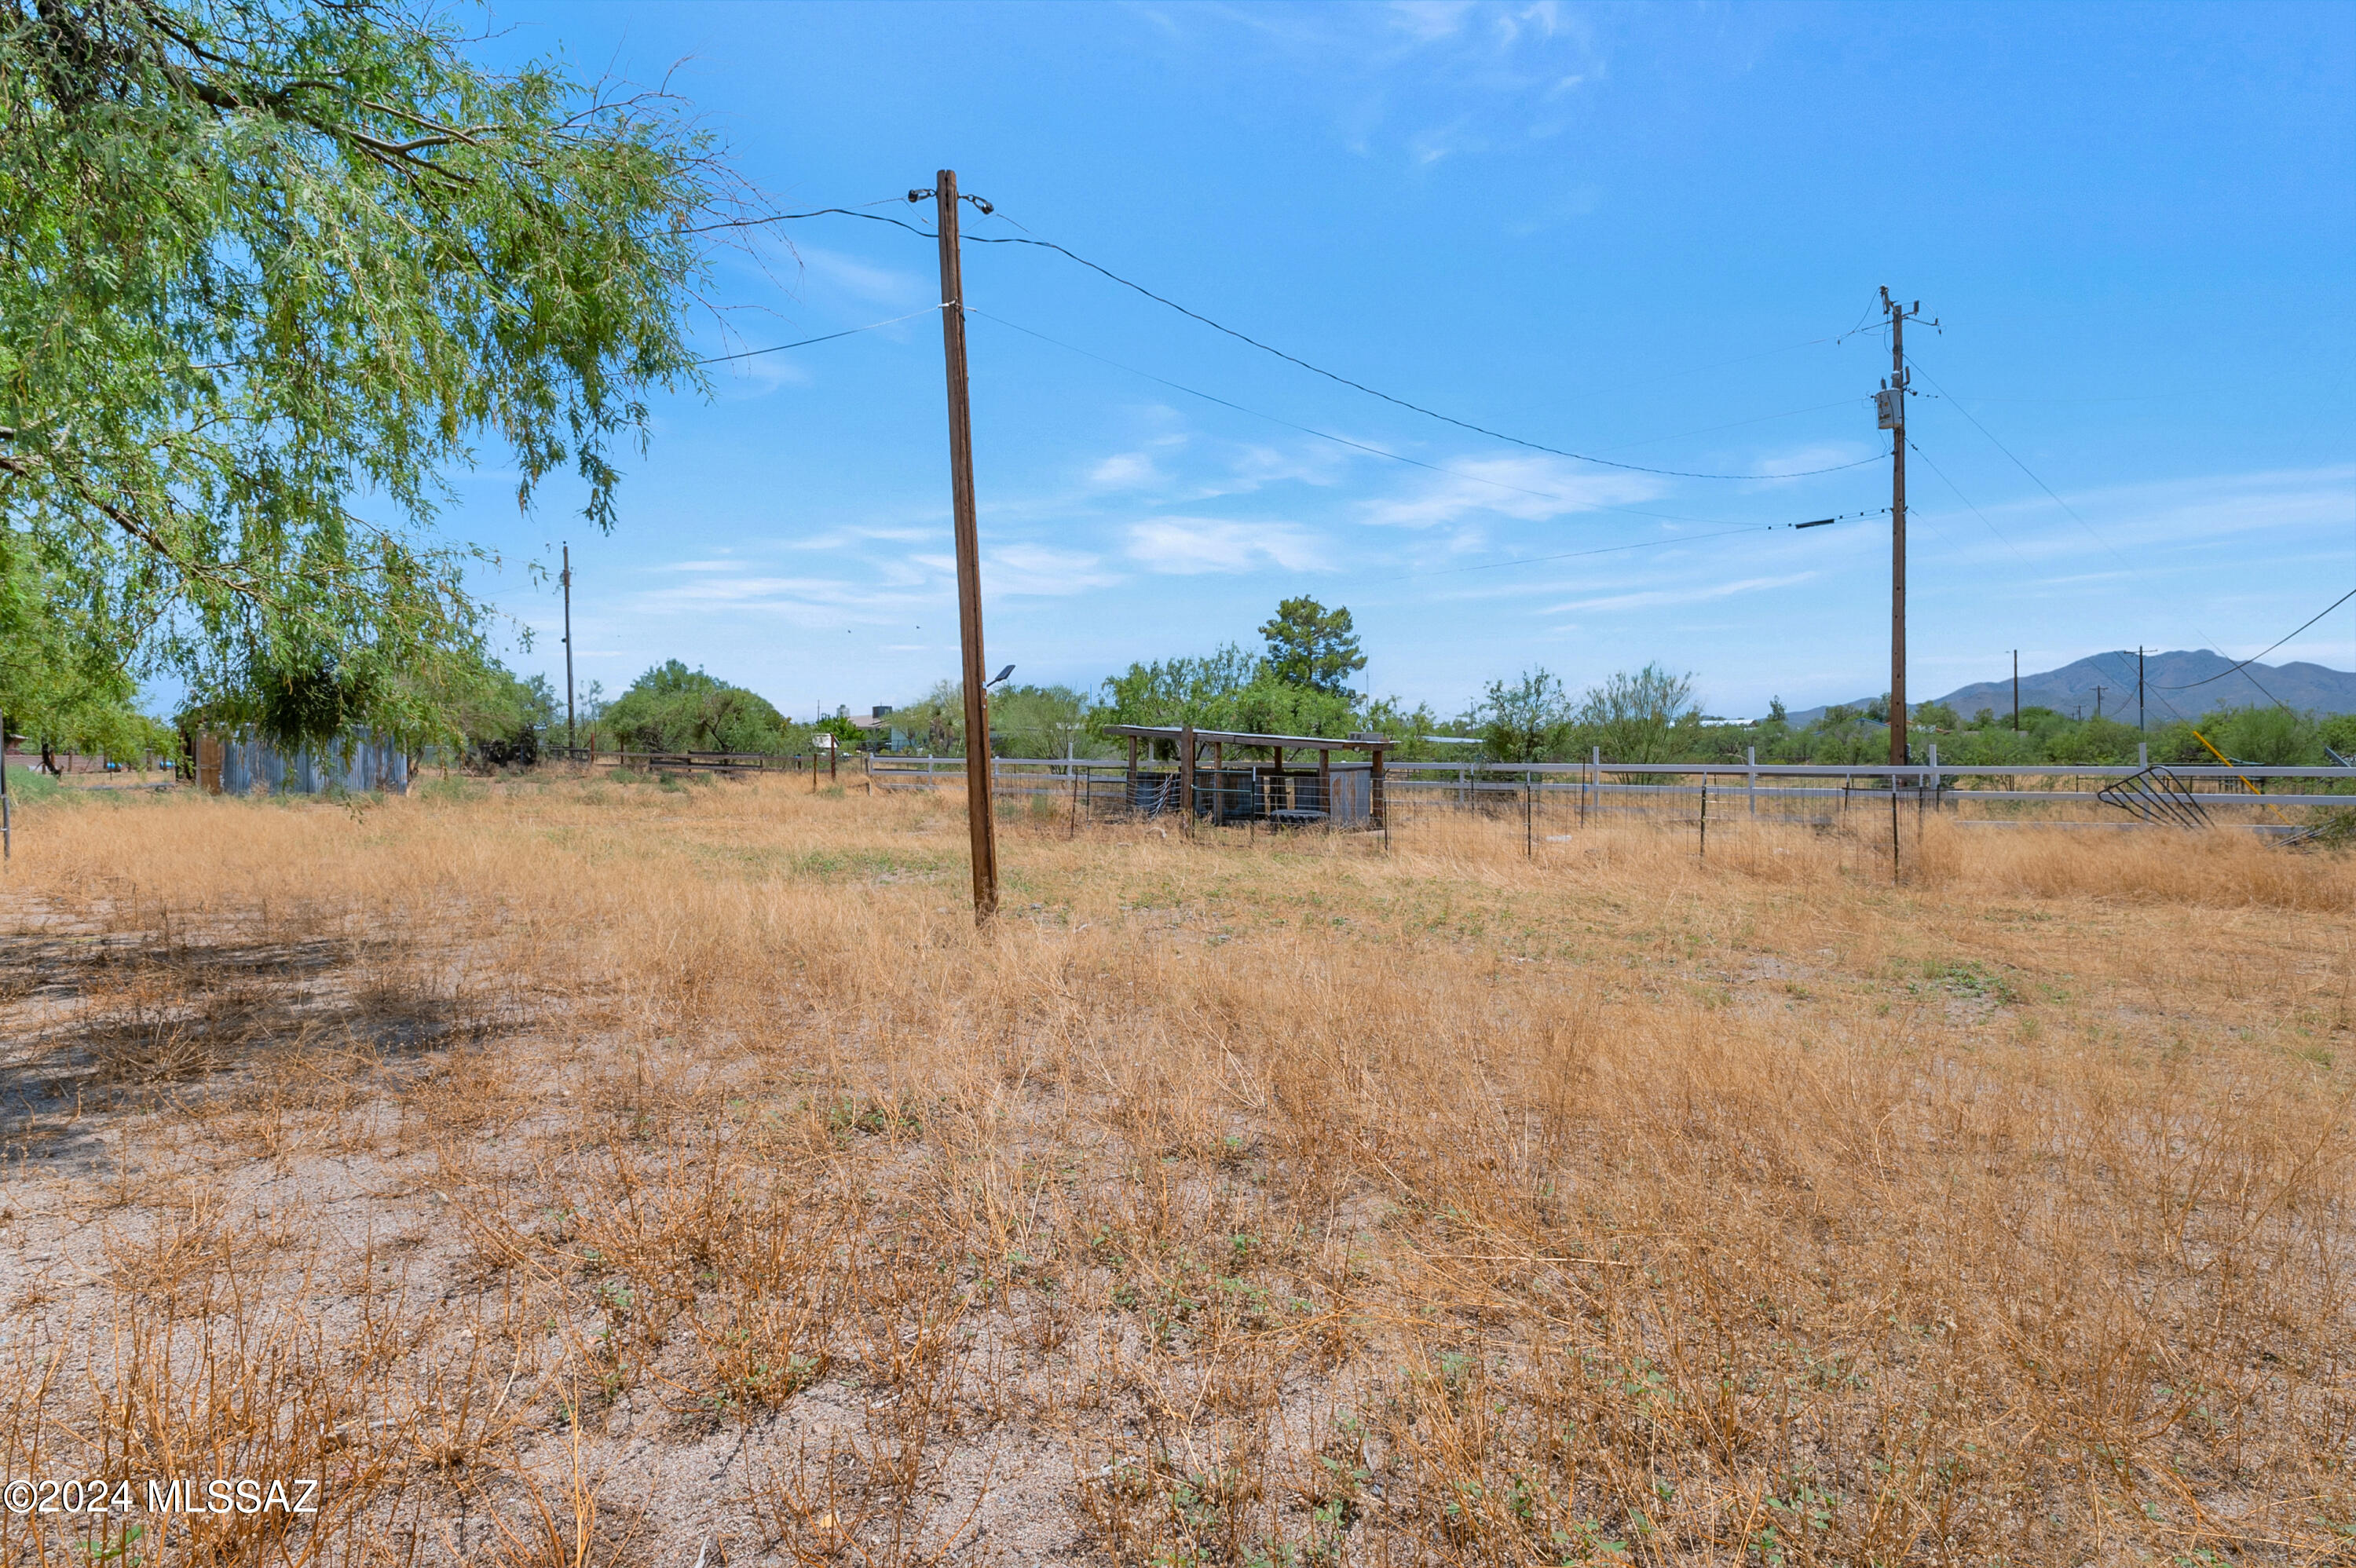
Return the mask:
<svg viewBox="0 0 2356 1568">
<path fill-rule="evenodd" d="M 125 669 L 445 732 L 483 610 L 443 473 L 492 440 L 610 527 L 730 205 L 676 106 L 481 71 L 438 9 L 0 0 L 12 549 Z"/>
</svg>

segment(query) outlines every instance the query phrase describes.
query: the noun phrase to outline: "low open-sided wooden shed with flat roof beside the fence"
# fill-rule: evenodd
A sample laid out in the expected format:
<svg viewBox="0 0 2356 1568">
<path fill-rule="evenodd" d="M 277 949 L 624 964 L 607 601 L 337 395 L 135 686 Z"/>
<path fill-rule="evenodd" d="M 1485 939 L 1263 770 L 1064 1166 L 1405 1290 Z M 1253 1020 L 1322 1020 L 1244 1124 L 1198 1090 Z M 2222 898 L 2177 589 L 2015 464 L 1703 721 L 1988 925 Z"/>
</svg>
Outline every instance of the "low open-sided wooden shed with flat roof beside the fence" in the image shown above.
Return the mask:
<svg viewBox="0 0 2356 1568">
<path fill-rule="evenodd" d="M 1129 808 L 1272 826 L 1383 826 L 1388 735 L 1249 735 L 1194 725 L 1105 725 L 1129 739 Z M 1169 749 L 1171 758 L 1154 756 Z M 1140 756 L 1140 751 L 1145 756 Z M 1336 751 L 1364 753 L 1336 758 Z"/>
</svg>

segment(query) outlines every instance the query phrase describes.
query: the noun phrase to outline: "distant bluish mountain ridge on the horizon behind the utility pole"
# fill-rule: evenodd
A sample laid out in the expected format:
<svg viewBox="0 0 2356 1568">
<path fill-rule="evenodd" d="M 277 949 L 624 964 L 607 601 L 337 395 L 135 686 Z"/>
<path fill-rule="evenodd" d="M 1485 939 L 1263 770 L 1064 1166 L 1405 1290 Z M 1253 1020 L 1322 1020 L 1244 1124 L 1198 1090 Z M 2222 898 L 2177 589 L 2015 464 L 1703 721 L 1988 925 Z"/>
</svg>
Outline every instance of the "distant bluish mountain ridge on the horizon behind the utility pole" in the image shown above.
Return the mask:
<svg viewBox="0 0 2356 1568">
<path fill-rule="evenodd" d="M 2316 713 L 2356 713 L 2356 671 L 2330 669 L 2323 664 L 2248 664 L 2233 669 L 2233 659 L 2208 647 L 2175 650 L 2175 652 L 2146 652 L 2144 655 L 2144 716 L 2153 725 L 2165 725 L 2175 718 L 2201 718 L 2217 706 L 2250 706 L 2252 702 L 2281 702 L 2299 711 Z M 2229 673 L 2231 671 L 2231 673 Z M 2198 685 L 2196 685 L 2198 683 Z M 2097 692 L 2097 687 L 2102 687 Z M 1875 702 L 1880 692 L 1871 697 L 1849 699 L 1847 709 L 1864 709 Z M 2012 676 L 2003 680 L 1974 680 L 1972 685 L 1960 685 L 1946 697 L 1925 697 L 1920 702 L 1944 702 L 1955 709 L 1958 718 L 1970 720 L 1979 709 L 1993 711 L 1998 718 L 2012 716 Z M 2102 652 L 2078 659 L 2076 664 L 2064 664 L 2062 669 L 2045 669 L 2038 673 L 2021 671 L 2021 706 L 2024 709 L 2052 709 L 2057 713 L 2071 713 L 2073 718 L 2092 718 L 2102 704 L 2102 713 L 2125 723 L 2135 723 L 2135 650 L 2123 647 L 2118 652 Z M 1791 723 L 1812 725 L 1824 718 L 1824 709 L 1805 709 L 1791 713 Z"/>
</svg>

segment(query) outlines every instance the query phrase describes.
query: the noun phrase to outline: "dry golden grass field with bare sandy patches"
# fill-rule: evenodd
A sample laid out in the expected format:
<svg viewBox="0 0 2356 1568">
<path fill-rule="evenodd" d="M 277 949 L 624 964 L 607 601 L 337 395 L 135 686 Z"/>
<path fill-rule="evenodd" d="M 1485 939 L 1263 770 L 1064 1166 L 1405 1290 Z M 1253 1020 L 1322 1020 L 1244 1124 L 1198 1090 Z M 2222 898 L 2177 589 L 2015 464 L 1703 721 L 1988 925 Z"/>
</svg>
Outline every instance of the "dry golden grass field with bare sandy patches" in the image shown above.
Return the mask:
<svg viewBox="0 0 2356 1568">
<path fill-rule="evenodd" d="M 803 791 L 21 812 L 0 1561 L 2356 1559 L 2347 855 Z"/>
</svg>

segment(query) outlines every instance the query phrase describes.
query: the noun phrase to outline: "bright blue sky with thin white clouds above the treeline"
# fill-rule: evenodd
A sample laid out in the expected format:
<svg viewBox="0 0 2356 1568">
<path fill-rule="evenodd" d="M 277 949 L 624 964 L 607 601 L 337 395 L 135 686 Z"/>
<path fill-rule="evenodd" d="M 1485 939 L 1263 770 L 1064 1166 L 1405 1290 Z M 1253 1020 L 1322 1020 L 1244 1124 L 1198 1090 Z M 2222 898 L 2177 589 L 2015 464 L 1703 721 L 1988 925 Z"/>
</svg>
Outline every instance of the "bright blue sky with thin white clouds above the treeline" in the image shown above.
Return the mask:
<svg viewBox="0 0 2356 1568">
<path fill-rule="evenodd" d="M 1355 612 L 1374 690 L 1444 711 L 1531 664 L 1576 690 L 1656 659 L 1743 716 L 1882 690 L 1887 518 L 1762 530 L 1890 501 L 1887 461 L 1776 478 L 1887 450 L 1875 285 L 1941 320 L 1908 330 L 1915 388 L 1944 393 L 1911 407 L 1918 697 L 2014 647 L 2021 669 L 2245 657 L 2356 586 L 2356 7 L 499 5 L 492 26 L 490 59 L 669 73 L 789 210 L 949 165 L 1001 214 L 975 235 L 1058 240 L 1472 424 L 1743 476 L 1520 450 L 1053 252 L 968 245 L 990 659 L 1020 680 L 1256 645 L 1315 593 Z M 537 631 L 516 669 L 563 676 L 554 586 L 523 563 L 570 539 L 584 687 L 679 657 L 810 713 L 954 673 L 933 247 L 785 228 L 723 259 L 714 351 L 916 315 L 660 403 L 613 534 L 563 487 L 518 516 L 497 454 L 457 476 L 443 527 L 502 551 L 478 586 Z M 2356 666 L 2356 605 L 2271 655 L 2292 657 Z"/>
</svg>

